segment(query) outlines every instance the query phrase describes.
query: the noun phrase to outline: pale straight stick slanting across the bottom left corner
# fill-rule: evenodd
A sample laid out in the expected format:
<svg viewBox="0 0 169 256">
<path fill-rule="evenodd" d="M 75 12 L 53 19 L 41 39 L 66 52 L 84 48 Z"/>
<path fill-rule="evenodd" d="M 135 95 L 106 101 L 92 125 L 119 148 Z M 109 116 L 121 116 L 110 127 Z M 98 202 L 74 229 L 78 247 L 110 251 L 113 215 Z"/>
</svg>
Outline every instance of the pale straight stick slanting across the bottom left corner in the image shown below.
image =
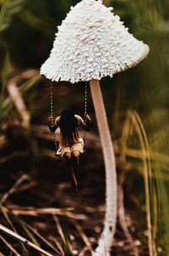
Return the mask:
<svg viewBox="0 0 169 256">
<path fill-rule="evenodd" d="M 28 241 L 25 239 L 25 237 L 21 237 L 18 234 L 14 233 L 14 231 L 9 230 L 7 227 L 3 226 L 0 224 L 0 231 L 3 231 L 6 233 L 8 236 L 13 237 L 14 239 L 18 240 L 19 242 L 24 242 L 25 244 L 28 244 L 31 248 L 34 248 L 36 251 L 43 253 L 46 256 L 53 256 L 51 253 L 47 253 L 43 249 L 39 248 L 36 246 L 34 243 Z"/>
</svg>

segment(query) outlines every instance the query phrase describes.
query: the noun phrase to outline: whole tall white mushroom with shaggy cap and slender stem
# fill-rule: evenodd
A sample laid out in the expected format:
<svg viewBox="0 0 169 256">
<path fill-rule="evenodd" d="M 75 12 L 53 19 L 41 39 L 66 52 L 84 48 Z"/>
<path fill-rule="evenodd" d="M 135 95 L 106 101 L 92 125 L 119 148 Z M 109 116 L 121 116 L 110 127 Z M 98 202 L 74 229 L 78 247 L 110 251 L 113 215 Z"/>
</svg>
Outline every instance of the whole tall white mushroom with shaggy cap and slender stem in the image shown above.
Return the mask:
<svg viewBox="0 0 169 256">
<path fill-rule="evenodd" d="M 107 256 L 116 228 L 117 175 L 99 81 L 138 64 L 149 53 L 149 47 L 129 34 L 112 8 L 106 8 L 101 0 L 82 0 L 71 7 L 57 28 L 52 52 L 41 66 L 41 75 L 52 81 L 90 81 L 106 166 L 105 225 L 93 255 Z"/>
</svg>

